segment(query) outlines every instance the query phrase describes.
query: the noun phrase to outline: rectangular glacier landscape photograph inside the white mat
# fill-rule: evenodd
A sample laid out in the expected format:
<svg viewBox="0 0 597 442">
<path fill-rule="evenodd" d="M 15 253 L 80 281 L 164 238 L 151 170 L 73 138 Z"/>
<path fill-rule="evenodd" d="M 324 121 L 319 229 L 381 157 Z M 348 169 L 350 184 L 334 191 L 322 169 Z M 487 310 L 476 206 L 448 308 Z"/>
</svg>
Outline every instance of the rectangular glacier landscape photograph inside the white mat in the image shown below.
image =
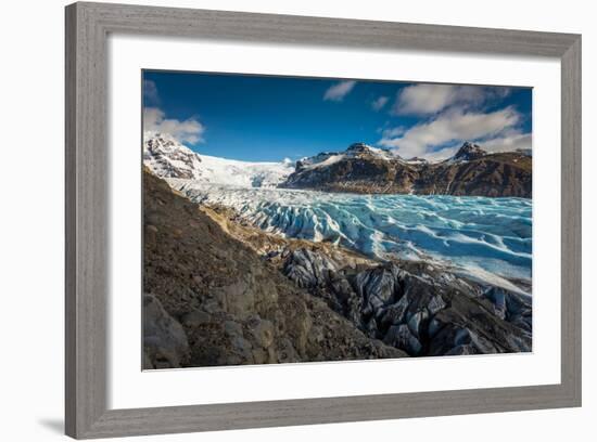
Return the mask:
<svg viewBox="0 0 597 442">
<path fill-rule="evenodd" d="M 532 88 L 140 74 L 143 369 L 533 351 Z"/>
</svg>

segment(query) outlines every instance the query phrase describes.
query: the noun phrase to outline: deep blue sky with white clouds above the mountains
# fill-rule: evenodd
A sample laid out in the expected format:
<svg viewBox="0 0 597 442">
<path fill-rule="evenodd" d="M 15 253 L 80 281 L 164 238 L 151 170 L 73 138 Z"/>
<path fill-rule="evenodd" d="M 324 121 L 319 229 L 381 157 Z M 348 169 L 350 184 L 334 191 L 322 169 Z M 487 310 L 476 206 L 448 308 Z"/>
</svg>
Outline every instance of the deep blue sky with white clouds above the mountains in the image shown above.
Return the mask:
<svg viewBox="0 0 597 442">
<path fill-rule="evenodd" d="M 528 88 L 143 72 L 143 125 L 200 154 L 292 160 L 365 142 L 409 158 L 531 147 Z"/>
</svg>

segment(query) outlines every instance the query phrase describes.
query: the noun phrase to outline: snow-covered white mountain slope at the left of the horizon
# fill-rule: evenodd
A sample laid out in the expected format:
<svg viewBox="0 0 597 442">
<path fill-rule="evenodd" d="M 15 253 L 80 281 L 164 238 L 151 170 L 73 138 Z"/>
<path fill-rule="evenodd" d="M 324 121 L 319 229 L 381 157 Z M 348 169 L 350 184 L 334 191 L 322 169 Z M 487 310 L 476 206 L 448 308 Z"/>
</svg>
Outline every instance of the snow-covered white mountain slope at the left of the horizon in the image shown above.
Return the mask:
<svg viewBox="0 0 597 442">
<path fill-rule="evenodd" d="M 200 155 L 173 136 L 145 132 L 143 162 L 157 177 L 240 187 L 276 187 L 294 171 L 292 161 L 250 162 Z"/>
</svg>

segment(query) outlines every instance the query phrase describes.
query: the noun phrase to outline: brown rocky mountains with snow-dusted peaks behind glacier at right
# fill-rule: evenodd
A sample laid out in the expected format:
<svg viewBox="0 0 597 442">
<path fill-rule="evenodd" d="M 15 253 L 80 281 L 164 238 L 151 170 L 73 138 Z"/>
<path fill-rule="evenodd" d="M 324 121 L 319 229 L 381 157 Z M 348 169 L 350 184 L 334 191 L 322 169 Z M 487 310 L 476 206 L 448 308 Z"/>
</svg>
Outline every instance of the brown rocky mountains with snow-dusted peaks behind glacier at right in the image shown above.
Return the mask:
<svg viewBox="0 0 597 442">
<path fill-rule="evenodd" d="M 296 162 L 281 187 L 326 192 L 515 196 L 532 194 L 532 157 L 526 152 L 487 153 L 465 143 L 441 162 L 405 160 L 364 143 Z"/>
</svg>

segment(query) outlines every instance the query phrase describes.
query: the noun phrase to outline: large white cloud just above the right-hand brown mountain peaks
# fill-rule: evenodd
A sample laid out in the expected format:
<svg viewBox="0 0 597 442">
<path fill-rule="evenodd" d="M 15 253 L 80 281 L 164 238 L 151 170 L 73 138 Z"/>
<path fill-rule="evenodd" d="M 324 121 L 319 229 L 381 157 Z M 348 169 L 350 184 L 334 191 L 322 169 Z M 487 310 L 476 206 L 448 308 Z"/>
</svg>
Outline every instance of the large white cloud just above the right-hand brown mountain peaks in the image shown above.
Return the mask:
<svg viewBox="0 0 597 442">
<path fill-rule="evenodd" d="M 378 144 L 392 148 L 407 158 L 412 156 L 433 157 L 439 153 L 437 147 L 449 143 L 478 140 L 486 140 L 485 143 L 491 143 L 492 140 L 499 136 L 506 140 L 505 136 L 511 133 L 519 122 L 520 115 L 513 107 L 487 114 L 455 108 L 429 122 L 416 125 L 395 136 L 391 132 L 384 131 Z M 490 147 L 495 148 L 491 144 Z"/>
</svg>

